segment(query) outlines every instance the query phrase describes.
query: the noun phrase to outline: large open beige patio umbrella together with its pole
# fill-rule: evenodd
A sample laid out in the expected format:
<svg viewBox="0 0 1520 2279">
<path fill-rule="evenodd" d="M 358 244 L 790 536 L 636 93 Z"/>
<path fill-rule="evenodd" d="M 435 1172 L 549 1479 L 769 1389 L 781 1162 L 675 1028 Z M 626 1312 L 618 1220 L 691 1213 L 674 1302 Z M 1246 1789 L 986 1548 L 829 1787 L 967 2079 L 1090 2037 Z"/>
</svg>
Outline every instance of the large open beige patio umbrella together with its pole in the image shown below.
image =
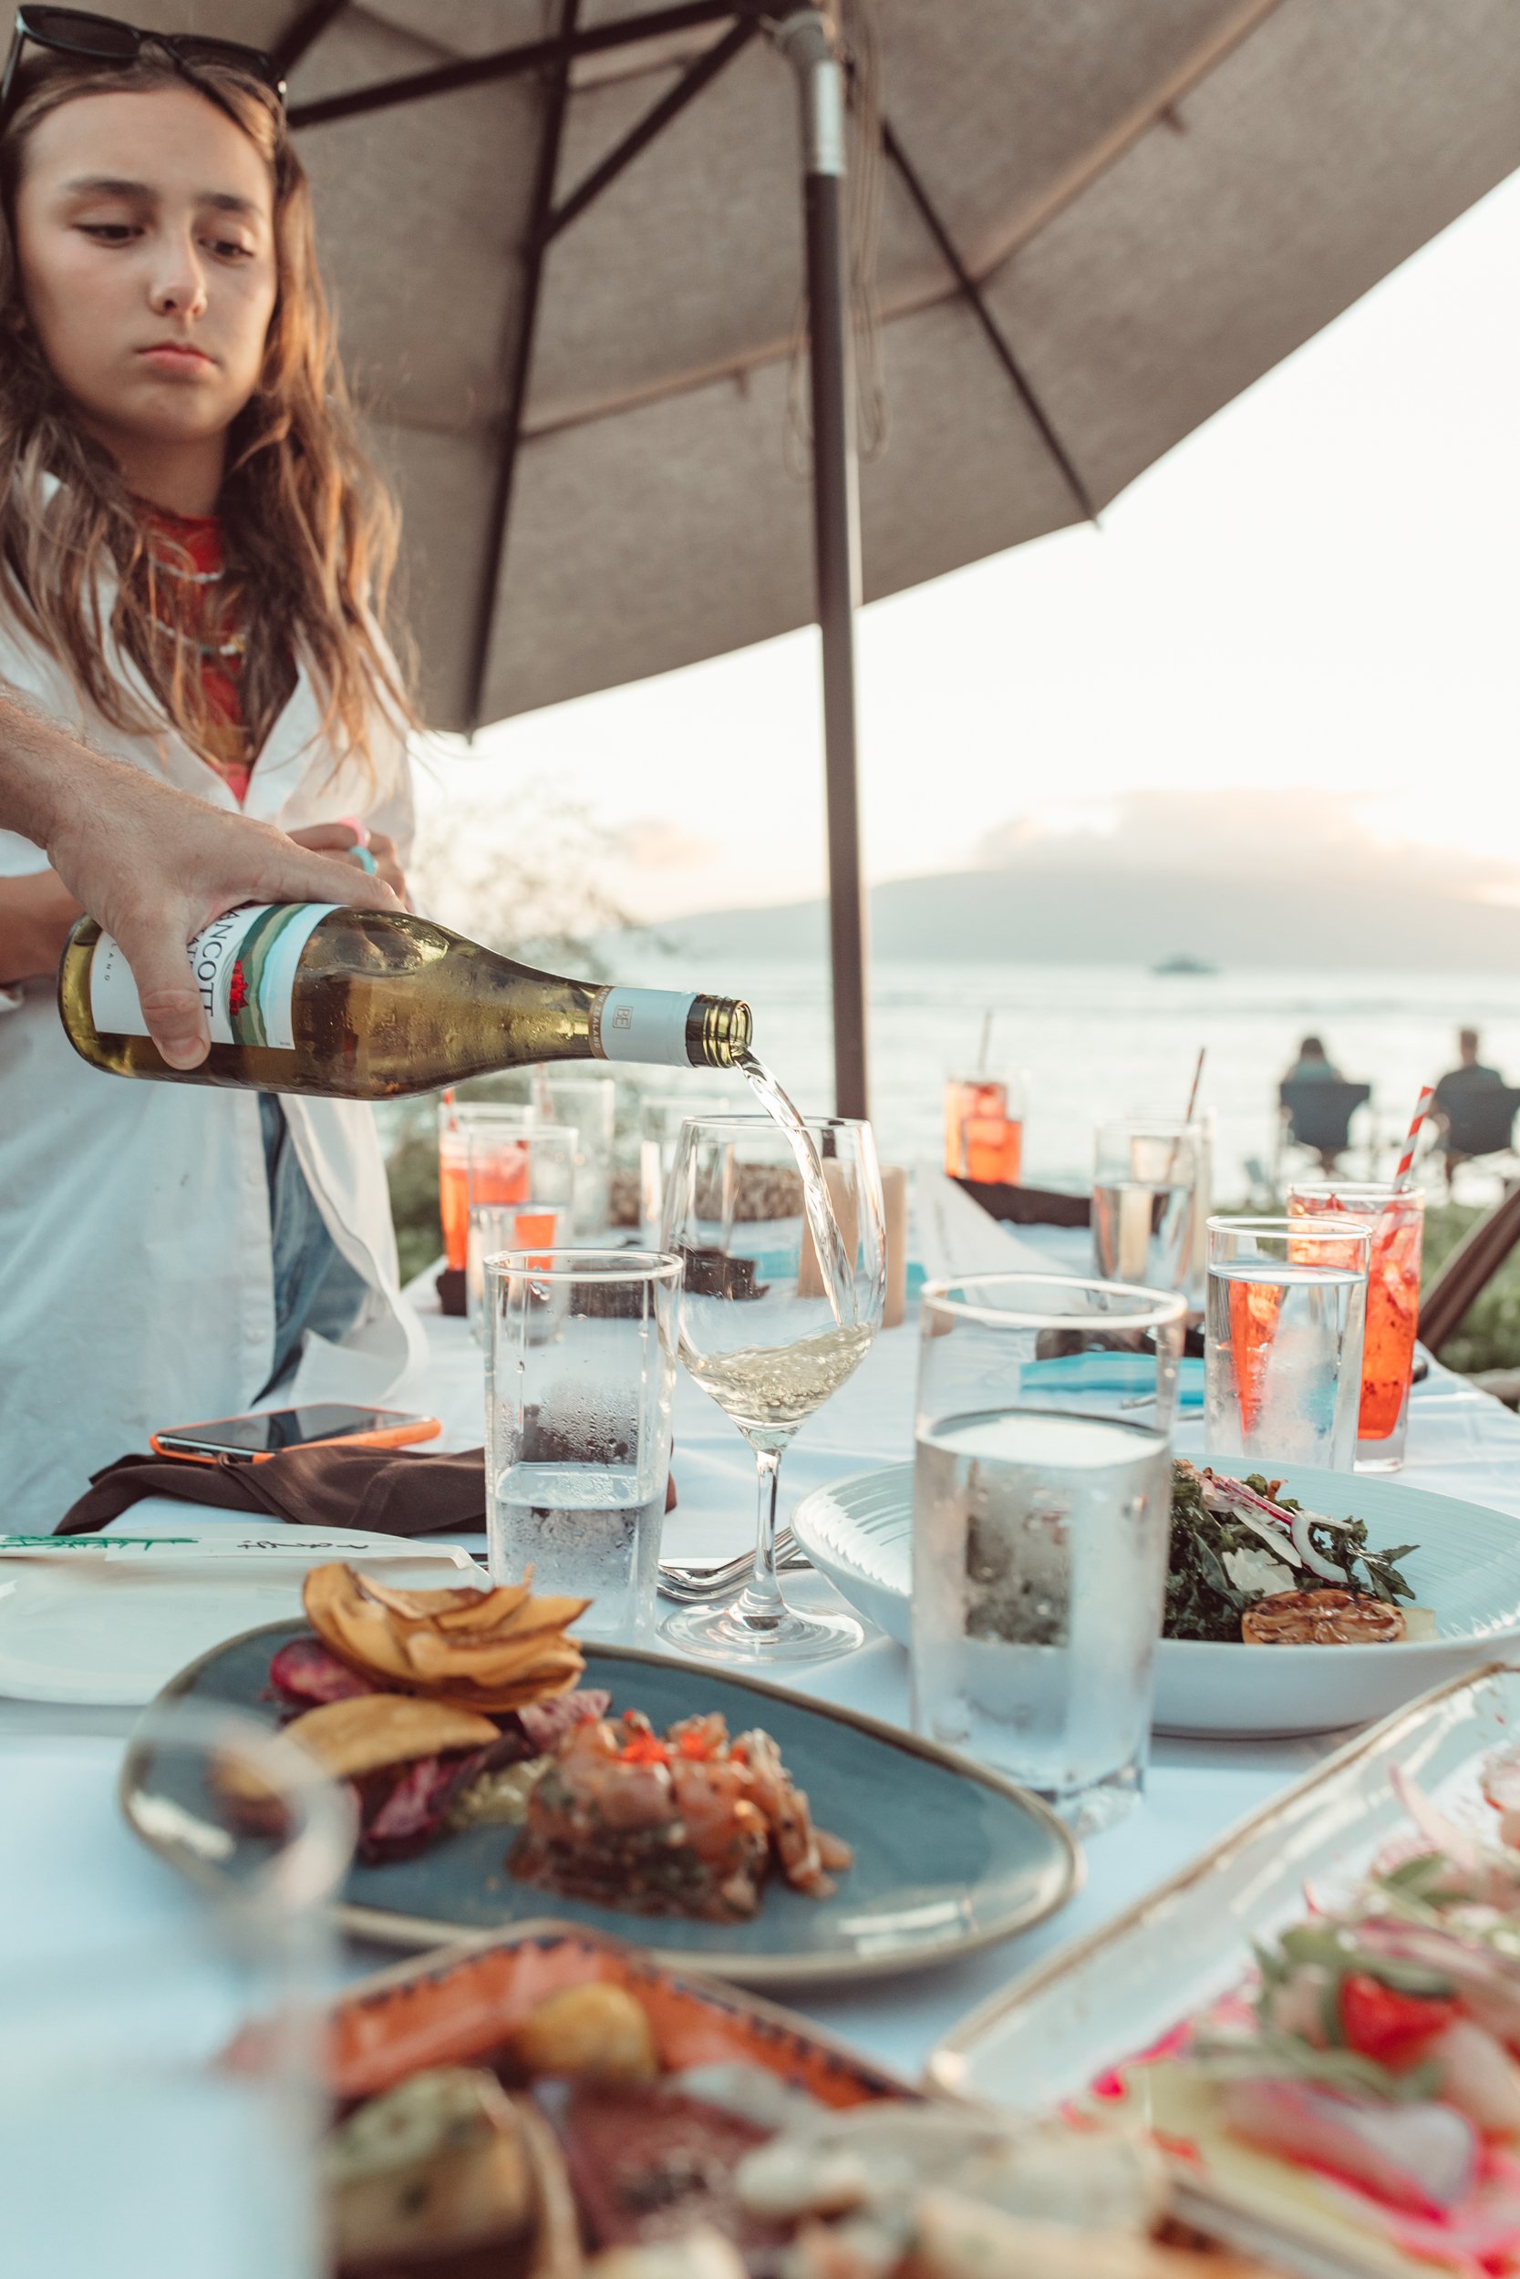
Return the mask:
<svg viewBox="0 0 1520 2279">
<path fill-rule="evenodd" d="M 809 7 L 155 16 L 289 68 L 344 351 L 406 506 L 433 720 L 823 622 L 845 1112 L 866 1105 L 857 586 L 1094 515 L 1520 164 L 1513 0 L 850 0 L 866 93 L 880 62 L 855 155 L 882 169 L 861 226 L 889 412 L 857 552 Z M 784 449 L 804 267 L 811 497 Z M 1010 629 L 1010 706 L 1016 684 Z M 725 782 L 716 752 L 713 795 L 741 820 L 766 786 Z"/>
</svg>

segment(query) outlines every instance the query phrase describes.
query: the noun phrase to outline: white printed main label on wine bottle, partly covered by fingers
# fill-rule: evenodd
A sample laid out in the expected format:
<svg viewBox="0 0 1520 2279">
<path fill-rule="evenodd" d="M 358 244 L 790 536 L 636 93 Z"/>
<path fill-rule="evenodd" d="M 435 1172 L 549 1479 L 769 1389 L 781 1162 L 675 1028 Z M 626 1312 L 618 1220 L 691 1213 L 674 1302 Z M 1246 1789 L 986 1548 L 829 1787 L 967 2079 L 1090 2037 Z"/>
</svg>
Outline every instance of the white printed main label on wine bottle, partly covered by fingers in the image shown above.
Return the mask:
<svg viewBox="0 0 1520 2279">
<path fill-rule="evenodd" d="M 189 944 L 189 971 L 212 1044 L 296 1042 L 292 996 L 301 950 L 340 902 L 248 902 L 214 918 Z M 89 1012 L 103 1037 L 146 1037 L 141 1000 L 121 946 L 100 934 L 89 966 Z"/>
</svg>

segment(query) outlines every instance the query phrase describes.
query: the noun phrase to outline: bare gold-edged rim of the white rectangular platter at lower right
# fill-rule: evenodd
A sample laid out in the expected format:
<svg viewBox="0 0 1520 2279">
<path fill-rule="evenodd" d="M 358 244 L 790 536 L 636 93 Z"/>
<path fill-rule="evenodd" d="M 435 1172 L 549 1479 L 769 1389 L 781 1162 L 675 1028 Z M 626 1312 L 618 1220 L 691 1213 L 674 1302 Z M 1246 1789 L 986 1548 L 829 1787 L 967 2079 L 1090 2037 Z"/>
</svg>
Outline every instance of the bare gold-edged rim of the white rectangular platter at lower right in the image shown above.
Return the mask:
<svg viewBox="0 0 1520 2279">
<path fill-rule="evenodd" d="M 1335 1901 L 1354 1889 L 1390 1837 L 1408 1830 L 1390 1773 L 1415 1782 L 1458 1828 L 1493 1841 L 1495 1816 L 1479 1775 L 1493 1750 L 1520 1746 L 1520 1668 L 1484 1668 L 1406 1705 L 1326 1757 L 1306 1780 L 1240 1821 L 1169 1882 L 1085 1939 L 982 2003 L 927 2060 L 927 2081 L 959 2097 L 1037 2113 L 1082 2099 L 1114 2069 L 1155 2047 L 1187 2019 L 1237 1990 L 1251 1971 L 1251 1942 L 1269 1942 L 1306 1914 L 1306 1894 Z M 1096 2110 L 1096 2106 L 1094 2106 Z M 1292 2254 L 1269 2254 L 1274 2270 L 1340 2279 L 1408 2272 L 1411 2263 L 1345 2224 L 1319 2220 L 1301 2233 L 1313 2188 L 1292 2206 L 1242 2192 L 1240 2176 L 1178 2167 L 1212 2199 L 1210 2229 L 1231 2238 L 1221 2206 L 1237 2217 L 1235 2245 L 1276 2222 L 1294 2231 Z M 1431 2274 L 1429 2263 L 1420 2270 Z"/>
</svg>

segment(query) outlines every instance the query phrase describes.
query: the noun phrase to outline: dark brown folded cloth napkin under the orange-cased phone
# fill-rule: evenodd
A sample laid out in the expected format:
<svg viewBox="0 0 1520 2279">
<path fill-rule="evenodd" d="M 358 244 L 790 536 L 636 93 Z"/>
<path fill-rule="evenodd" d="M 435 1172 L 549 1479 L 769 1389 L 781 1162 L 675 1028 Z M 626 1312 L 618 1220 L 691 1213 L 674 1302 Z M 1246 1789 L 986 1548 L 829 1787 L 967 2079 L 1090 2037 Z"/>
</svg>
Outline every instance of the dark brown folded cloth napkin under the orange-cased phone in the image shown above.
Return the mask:
<svg viewBox="0 0 1520 2279">
<path fill-rule="evenodd" d="M 264 1463 L 189 1463 L 185 1456 L 119 1456 L 52 1529 L 93 1536 L 144 1495 L 251 1511 L 294 1527 L 353 1527 L 367 1536 L 472 1536 L 485 1527 L 485 1449 L 431 1456 L 419 1449 L 287 1447 Z M 675 1506 L 675 1479 L 665 1511 Z"/>
</svg>

